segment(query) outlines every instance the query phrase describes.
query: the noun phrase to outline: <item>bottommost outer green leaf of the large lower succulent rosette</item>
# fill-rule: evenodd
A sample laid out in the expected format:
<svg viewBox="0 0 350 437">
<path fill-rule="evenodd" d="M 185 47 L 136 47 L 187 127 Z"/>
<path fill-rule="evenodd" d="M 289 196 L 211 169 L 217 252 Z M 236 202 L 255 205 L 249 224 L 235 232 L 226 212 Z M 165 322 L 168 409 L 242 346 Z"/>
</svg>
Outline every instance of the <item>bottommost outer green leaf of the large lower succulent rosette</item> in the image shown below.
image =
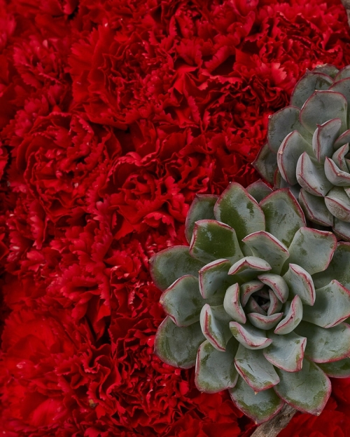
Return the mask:
<svg viewBox="0 0 350 437">
<path fill-rule="evenodd" d="M 276 415 L 284 402 L 276 395 L 274 389 L 259 391 L 255 394 L 242 378 L 230 389 L 230 396 L 237 408 L 253 419 L 255 424 L 262 424 Z"/>
</svg>

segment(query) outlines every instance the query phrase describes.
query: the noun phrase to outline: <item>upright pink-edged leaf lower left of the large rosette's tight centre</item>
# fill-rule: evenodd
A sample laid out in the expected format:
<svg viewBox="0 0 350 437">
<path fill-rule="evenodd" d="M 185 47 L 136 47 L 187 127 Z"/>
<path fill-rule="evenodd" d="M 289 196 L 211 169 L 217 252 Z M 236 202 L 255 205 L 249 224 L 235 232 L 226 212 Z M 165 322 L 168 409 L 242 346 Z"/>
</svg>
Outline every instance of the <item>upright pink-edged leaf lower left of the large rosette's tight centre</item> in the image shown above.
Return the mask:
<svg viewBox="0 0 350 437">
<path fill-rule="evenodd" d="M 232 318 L 226 313 L 223 305 L 211 307 L 205 304 L 200 314 L 200 325 L 204 336 L 218 351 L 225 351 L 226 344 L 232 337 L 230 331 Z"/>
</svg>

